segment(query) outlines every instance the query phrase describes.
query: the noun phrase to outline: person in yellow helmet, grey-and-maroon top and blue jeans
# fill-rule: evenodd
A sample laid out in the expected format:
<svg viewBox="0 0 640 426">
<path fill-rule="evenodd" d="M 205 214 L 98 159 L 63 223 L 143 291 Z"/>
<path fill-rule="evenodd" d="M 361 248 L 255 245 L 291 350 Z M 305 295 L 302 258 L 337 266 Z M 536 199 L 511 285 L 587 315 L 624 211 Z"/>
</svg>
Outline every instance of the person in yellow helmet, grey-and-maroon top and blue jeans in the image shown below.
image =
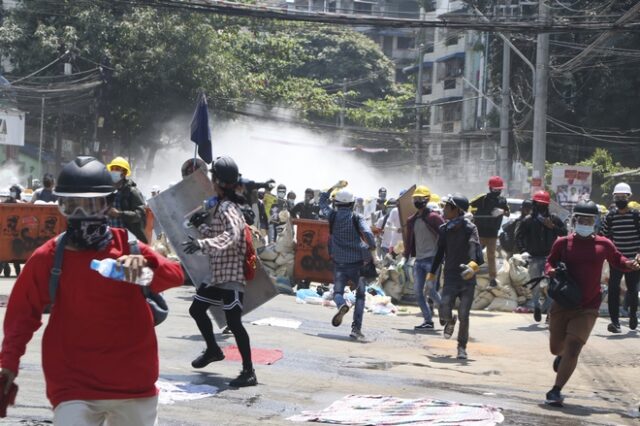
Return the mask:
<svg viewBox="0 0 640 426">
<path fill-rule="evenodd" d="M 426 186 L 420 185 L 413 192 L 413 205 L 418 211 L 407 220 L 407 244 L 404 248 L 405 259 L 416 259 L 413 265 L 413 285 L 423 317 L 422 323 L 414 327 L 416 330 L 433 329 L 433 312 L 427 304 L 425 292 L 430 294 L 435 303 L 441 303 L 435 282 L 426 281 L 438 251 L 439 229 L 444 223 L 442 216 L 427 207 L 430 198 L 431 191 Z"/>
</svg>

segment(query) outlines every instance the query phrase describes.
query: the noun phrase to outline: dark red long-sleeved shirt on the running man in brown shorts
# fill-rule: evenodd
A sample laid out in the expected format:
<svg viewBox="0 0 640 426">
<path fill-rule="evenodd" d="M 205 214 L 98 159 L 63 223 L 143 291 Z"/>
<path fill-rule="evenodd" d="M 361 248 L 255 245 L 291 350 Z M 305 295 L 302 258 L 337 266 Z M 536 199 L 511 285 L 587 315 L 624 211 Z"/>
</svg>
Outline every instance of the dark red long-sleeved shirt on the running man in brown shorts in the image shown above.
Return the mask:
<svg viewBox="0 0 640 426">
<path fill-rule="evenodd" d="M 564 262 L 569 275 L 582 290 L 582 307 L 598 309 L 602 301 L 600 279 L 605 260 L 613 268 L 628 271 L 624 263 L 629 259 L 624 257 L 608 238 L 599 235 L 593 238 L 571 235 L 558 238 L 553 243 L 545 272 L 549 273 L 558 262 Z"/>
</svg>

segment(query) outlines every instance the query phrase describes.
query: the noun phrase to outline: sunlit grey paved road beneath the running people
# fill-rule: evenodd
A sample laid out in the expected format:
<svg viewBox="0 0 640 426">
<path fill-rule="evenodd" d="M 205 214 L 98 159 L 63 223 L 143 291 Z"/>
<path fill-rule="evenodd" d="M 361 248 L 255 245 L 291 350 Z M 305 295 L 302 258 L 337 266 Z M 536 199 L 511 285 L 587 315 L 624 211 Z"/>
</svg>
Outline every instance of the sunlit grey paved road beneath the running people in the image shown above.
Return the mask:
<svg viewBox="0 0 640 426">
<path fill-rule="evenodd" d="M 12 279 L 0 278 L 0 298 L 11 291 Z M 415 307 L 395 317 L 365 315 L 368 342 L 350 341 L 349 323 L 334 328 L 332 309 L 297 304 L 292 296 L 278 296 L 245 318 L 252 345 L 280 349 L 284 357 L 273 365 L 258 365 L 260 384 L 230 389 L 240 364 L 223 361 L 203 370 L 191 360 L 203 347 L 188 314 L 192 289 L 167 292 L 169 319 L 158 327 L 161 379 L 207 384 L 218 388 L 211 397 L 161 405 L 161 425 L 282 425 L 302 410 L 321 410 L 348 394 L 383 394 L 403 398 L 439 398 L 500 407 L 509 425 L 638 424 L 640 391 L 640 334 L 612 336 L 604 318 L 598 320 L 578 369 L 565 389 L 567 406 L 542 404 L 553 384 L 553 357 L 548 333 L 531 315 L 473 312 L 470 359 L 454 358 L 455 340 L 442 330 L 416 334 L 420 322 Z M 4 308 L 0 315 L 4 318 Z M 298 329 L 256 326 L 265 317 L 296 319 Z M 46 316 L 43 321 L 46 323 Z M 40 366 L 42 329 L 29 344 L 17 379 L 18 405 L 0 424 L 48 424 L 52 415 L 44 394 Z M 220 336 L 221 345 L 235 344 Z M 99 366 L 96 366 L 99 368 Z"/>
</svg>

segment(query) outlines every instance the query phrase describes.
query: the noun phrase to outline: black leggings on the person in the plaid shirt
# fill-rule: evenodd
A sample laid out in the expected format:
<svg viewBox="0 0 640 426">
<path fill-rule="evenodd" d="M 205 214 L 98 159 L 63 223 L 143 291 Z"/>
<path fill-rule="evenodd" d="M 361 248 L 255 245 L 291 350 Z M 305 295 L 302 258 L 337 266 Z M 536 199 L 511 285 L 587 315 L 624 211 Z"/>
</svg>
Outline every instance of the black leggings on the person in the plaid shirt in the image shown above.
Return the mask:
<svg viewBox="0 0 640 426">
<path fill-rule="evenodd" d="M 198 330 L 207 343 L 208 352 L 220 352 L 220 346 L 216 343 L 216 338 L 213 335 L 213 324 L 207 310 L 211 306 L 210 303 L 203 302 L 198 299 L 194 299 L 189 308 L 189 314 L 196 321 Z M 236 339 L 238 345 L 238 351 L 242 356 L 242 368 L 244 370 L 251 370 L 253 363 L 251 362 L 251 343 L 249 341 L 249 334 L 242 325 L 242 309 L 239 306 L 234 306 L 230 310 L 224 311 L 224 316 L 227 320 L 229 330 L 233 333 L 233 337 Z"/>
</svg>

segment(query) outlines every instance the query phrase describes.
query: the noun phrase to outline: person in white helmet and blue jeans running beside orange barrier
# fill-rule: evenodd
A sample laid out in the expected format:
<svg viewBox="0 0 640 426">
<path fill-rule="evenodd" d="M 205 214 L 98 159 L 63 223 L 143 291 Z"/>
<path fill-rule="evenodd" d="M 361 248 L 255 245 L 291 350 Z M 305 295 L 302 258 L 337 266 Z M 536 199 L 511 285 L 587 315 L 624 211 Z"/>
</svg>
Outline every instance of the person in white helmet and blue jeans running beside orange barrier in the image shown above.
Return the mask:
<svg viewBox="0 0 640 426">
<path fill-rule="evenodd" d="M 376 242 L 364 218 L 353 212 L 355 199 L 352 193 L 346 189 L 337 191 L 334 198 L 336 210 L 331 208 L 329 198 L 336 188 L 331 187 L 320 194 L 320 210 L 329 220 L 329 256 L 334 263 L 333 301 L 338 308 L 331 324 L 339 327 L 349 311 L 344 289 L 351 282 L 356 286 L 356 303 L 349 336 L 354 340 L 364 340 L 362 319 L 366 281 L 361 277 L 361 269 L 365 263 L 375 263 Z"/>
</svg>

